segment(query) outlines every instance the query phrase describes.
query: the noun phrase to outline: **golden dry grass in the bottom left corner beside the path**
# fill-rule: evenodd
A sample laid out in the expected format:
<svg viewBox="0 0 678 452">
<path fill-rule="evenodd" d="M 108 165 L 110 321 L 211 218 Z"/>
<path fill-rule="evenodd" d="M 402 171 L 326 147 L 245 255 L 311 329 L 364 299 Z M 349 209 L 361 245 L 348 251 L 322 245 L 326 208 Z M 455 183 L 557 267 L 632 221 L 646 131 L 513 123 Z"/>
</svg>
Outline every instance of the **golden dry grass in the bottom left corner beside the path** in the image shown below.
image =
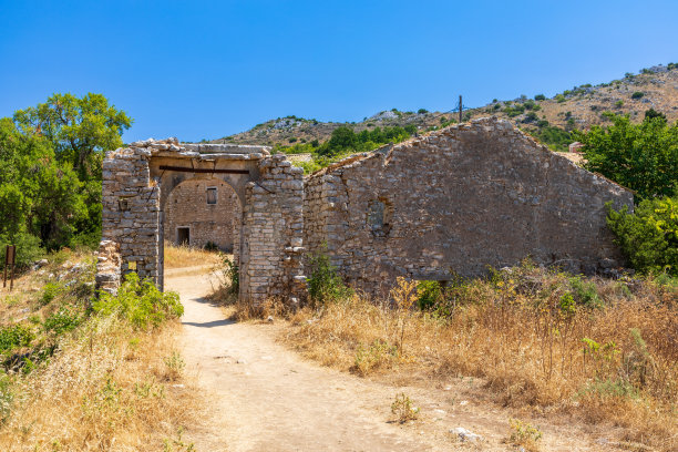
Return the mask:
<svg viewBox="0 0 678 452">
<path fill-rule="evenodd" d="M 133 333 L 114 317 L 93 318 L 49 366 L 16 381 L 0 450 L 162 450 L 191 422 L 196 397 L 170 364 L 177 328 Z"/>
</svg>

